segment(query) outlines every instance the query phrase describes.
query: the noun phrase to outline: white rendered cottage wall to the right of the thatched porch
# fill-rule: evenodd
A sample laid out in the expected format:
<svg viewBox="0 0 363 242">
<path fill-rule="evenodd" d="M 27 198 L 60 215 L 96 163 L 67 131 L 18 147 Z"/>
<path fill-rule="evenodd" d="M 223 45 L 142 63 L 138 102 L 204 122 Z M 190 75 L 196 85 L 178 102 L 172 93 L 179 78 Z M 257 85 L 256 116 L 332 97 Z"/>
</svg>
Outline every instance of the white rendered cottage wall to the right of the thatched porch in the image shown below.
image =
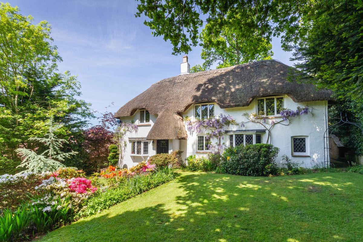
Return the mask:
<svg viewBox="0 0 363 242">
<path fill-rule="evenodd" d="M 236 108 L 220 108 L 217 104 L 215 105 L 215 115 L 224 114 L 231 115 L 238 123 L 244 122 L 245 127 L 231 126 L 225 127 L 225 130 L 256 130 L 264 129 L 263 126 L 257 123 L 248 122 L 245 116 L 242 116 L 245 112 L 252 113 L 257 112 L 256 110 L 257 99 L 254 99 L 248 107 L 236 107 Z M 274 146 L 280 148 L 276 162 L 278 164 L 282 163 L 281 156 L 287 155 L 293 161 L 301 163 L 302 167 L 312 167 L 315 164 L 324 163 L 324 132 L 327 128 L 327 101 L 316 101 L 316 102 L 303 102 L 295 103 L 291 98 L 285 95 L 284 107 L 290 108 L 291 110 L 296 110 L 298 106 L 305 107 L 309 106 L 314 108 L 313 115 L 306 114 L 297 116 L 291 119 L 289 126 L 284 126 L 282 124 L 275 124 L 271 131 L 271 138 Z M 182 116 L 188 116 L 192 120 L 194 119 L 194 105 L 191 105 L 188 110 L 183 112 Z M 271 119 L 276 121 L 282 120 L 280 115 L 271 116 Z M 266 120 L 269 122 L 269 119 Z M 284 124 L 287 124 L 285 121 Z M 186 127 L 185 127 L 186 128 Z M 184 150 L 183 158 L 189 155 L 196 156 L 206 156 L 209 152 L 197 152 L 197 134 L 188 131 L 187 148 Z M 208 131 L 206 131 L 208 132 Z M 199 135 L 205 134 L 202 133 Z M 268 133 L 262 135 L 262 143 L 266 143 Z M 291 136 L 308 136 L 307 138 L 307 152 L 309 152 L 308 157 L 302 156 L 292 156 L 291 155 Z M 212 140 L 213 142 L 213 140 Z M 215 141 L 214 141 L 215 142 Z M 224 136 L 223 142 L 229 146 L 228 135 Z"/>
</svg>

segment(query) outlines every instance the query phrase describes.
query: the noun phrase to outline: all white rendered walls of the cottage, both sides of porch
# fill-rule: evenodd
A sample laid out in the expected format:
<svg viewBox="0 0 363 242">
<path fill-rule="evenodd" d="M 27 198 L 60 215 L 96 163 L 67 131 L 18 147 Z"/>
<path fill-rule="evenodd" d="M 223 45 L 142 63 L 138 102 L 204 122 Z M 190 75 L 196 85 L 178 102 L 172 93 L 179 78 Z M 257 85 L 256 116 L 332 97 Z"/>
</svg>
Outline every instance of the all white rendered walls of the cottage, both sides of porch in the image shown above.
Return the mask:
<svg viewBox="0 0 363 242">
<path fill-rule="evenodd" d="M 236 107 L 236 108 L 220 108 L 217 104 L 215 105 L 215 115 L 224 114 L 231 115 L 238 123 L 245 122 L 245 127 L 240 126 L 231 126 L 226 127 L 225 130 L 256 130 L 256 129 L 264 129 L 260 124 L 248 122 L 248 120 L 242 116 L 245 112 L 252 113 L 257 112 L 256 110 L 257 99 L 254 99 L 252 103 L 248 107 Z M 317 102 L 303 102 L 303 103 L 295 103 L 291 98 L 285 95 L 284 99 L 284 107 L 290 108 L 291 110 L 295 110 L 298 106 L 305 107 L 309 106 L 313 108 L 313 115 L 310 113 L 307 115 L 297 116 L 297 118 L 293 118 L 291 120 L 291 124 L 289 126 L 284 126 L 281 124 L 276 124 L 271 129 L 271 138 L 272 144 L 276 147 L 280 148 L 280 152 L 278 153 L 278 157 L 276 162 L 281 164 L 282 155 L 287 155 L 293 161 L 302 163 L 303 167 L 312 167 L 315 164 L 323 164 L 324 162 L 324 132 L 327 128 L 327 101 L 317 101 Z M 136 111 L 134 115 L 124 117 L 121 119 L 122 122 L 131 122 L 133 121 L 135 124 L 139 124 L 139 114 L 140 111 Z M 181 116 L 188 116 L 192 120 L 194 120 L 194 105 L 191 105 L 185 112 L 181 114 Z M 156 154 L 156 140 L 154 140 L 155 144 L 152 145 L 151 140 L 142 140 L 148 141 L 148 155 L 132 155 L 131 154 L 131 141 L 129 138 L 146 138 L 148 132 L 151 130 L 152 125 L 154 125 L 157 115 L 150 114 L 150 123 L 148 124 L 139 124 L 138 132 L 127 134 L 125 137 L 127 147 L 126 152 L 124 153 L 123 164 L 126 164 L 128 168 L 138 164 L 143 160 L 147 160 L 148 157 Z M 272 116 L 271 119 L 276 121 L 282 120 L 281 116 Z M 268 122 L 268 120 L 267 120 Z M 284 122 L 287 124 L 287 121 Z M 186 128 L 186 127 L 185 127 Z M 203 130 L 204 132 L 204 130 Z M 203 135 L 204 133 L 199 135 Z M 208 131 L 207 131 L 208 132 Z M 196 156 L 207 156 L 209 152 L 197 152 L 197 134 L 191 133 L 187 130 L 188 139 L 187 140 L 169 140 L 169 153 L 173 150 L 180 149 L 183 151 L 182 158 L 183 160 L 189 155 Z M 262 135 L 262 143 L 266 143 L 267 139 L 267 131 Z M 301 156 L 291 156 L 291 136 L 308 136 L 307 149 L 309 152 L 308 157 Z M 213 140 L 212 140 L 213 142 Z M 224 140 L 229 145 L 228 135 L 224 136 Z M 326 147 L 328 147 L 326 145 Z M 121 164 L 119 164 L 120 166 Z"/>
</svg>

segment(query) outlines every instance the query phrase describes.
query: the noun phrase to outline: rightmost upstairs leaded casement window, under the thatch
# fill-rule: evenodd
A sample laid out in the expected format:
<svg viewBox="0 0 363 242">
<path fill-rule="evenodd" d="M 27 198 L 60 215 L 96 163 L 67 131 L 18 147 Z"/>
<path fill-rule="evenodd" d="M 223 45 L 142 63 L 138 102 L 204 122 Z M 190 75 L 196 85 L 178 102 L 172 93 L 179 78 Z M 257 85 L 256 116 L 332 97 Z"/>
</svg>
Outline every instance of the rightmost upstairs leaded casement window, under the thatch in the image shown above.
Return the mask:
<svg viewBox="0 0 363 242">
<path fill-rule="evenodd" d="M 279 115 L 284 108 L 284 96 L 257 99 L 257 114 Z"/>
</svg>

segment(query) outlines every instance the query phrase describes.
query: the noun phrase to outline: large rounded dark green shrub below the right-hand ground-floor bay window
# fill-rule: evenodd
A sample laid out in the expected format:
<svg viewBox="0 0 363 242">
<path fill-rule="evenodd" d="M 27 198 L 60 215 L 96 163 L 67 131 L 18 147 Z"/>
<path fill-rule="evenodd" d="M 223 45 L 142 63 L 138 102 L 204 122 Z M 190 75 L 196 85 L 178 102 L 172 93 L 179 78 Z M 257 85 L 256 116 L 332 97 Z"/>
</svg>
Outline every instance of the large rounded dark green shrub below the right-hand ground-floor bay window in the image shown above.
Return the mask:
<svg viewBox="0 0 363 242">
<path fill-rule="evenodd" d="M 220 171 L 243 176 L 276 175 L 278 168 L 275 159 L 278 151 L 271 144 L 229 147 L 223 152 Z"/>
</svg>

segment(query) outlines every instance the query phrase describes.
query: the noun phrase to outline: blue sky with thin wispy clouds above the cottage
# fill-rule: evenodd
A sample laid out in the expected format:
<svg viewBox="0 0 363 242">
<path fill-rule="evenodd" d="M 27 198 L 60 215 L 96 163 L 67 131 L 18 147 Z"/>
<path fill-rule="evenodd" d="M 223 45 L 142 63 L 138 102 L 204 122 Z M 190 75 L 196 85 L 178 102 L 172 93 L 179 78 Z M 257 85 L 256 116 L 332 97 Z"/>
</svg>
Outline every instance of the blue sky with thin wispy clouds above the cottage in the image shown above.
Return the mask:
<svg viewBox="0 0 363 242">
<path fill-rule="evenodd" d="M 54 45 L 63 59 L 58 67 L 78 75 L 81 99 L 95 111 L 115 112 L 123 104 L 161 79 L 180 74 L 182 56 L 171 54 L 170 42 L 154 37 L 136 18 L 134 0 L 11 0 L 34 24 L 46 20 L 52 26 Z M 273 39 L 273 58 L 293 65 L 280 40 Z M 188 53 L 191 66 L 201 64 L 201 48 Z M 91 120 L 97 124 L 97 121 Z"/>
</svg>

